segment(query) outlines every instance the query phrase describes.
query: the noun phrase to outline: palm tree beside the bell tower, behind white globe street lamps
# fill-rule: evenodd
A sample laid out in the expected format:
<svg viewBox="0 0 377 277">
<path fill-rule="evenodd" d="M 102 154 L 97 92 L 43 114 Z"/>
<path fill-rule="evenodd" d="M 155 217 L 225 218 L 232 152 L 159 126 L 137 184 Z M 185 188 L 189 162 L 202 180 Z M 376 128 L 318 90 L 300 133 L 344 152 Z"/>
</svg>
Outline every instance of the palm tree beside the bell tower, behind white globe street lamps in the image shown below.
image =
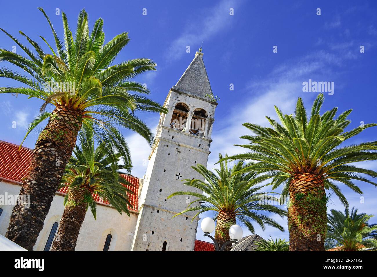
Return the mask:
<svg viewBox="0 0 377 277">
<path fill-rule="evenodd" d="M 219 154 L 219 159 L 224 158 Z M 227 156 L 225 156 L 227 158 Z M 256 222 L 263 230 L 265 225 L 270 225 L 284 231 L 271 217 L 266 216 L 262 212 L 271 212 L 278 214 L 281 217 L 286 215 L 286 212 L 276 206 L 268 204 L 268 201 L 274 200 L 273 197 L 265 197 L 265 193 L 261 191 L 264 186 L 254 186 L 252 184 L 255 178 L 255 173 L 236 173 L 251 163 L 243 165 L 242 162 L 237 162 L 233 168 L 228 168 L 228 162 L 220 162 L 220 169 L 215 169 L 216 173 L 207 170 L 203 165 L 192 167 L 195 171 L 203 176 L 207 182 L 198 179 L 185 179 L 185 185 L 196 188 L 196 191 L 177 191 L 171 194 L 167 199 L 176 195 L 190 195 L 197 199 L 193 200 L 186 210 L 176 214 L 184 214 L 190 211 L 198 211 L 193 217 L 195 219 L 205 211 L 214 211 L 217 220 L 215 239 L 219 244 L 219 248 L 229 241 L 229 228 L 236 224 L 236 219 L 242 222 L 251 233 L 255 233 L 252 221 Z M 204 194 L 202 193 L 204 192 Z M 192 204 L 199 201 L 207 202 L 208 204 L 199 204 L 192 206 Z M 192 207 L 191 207 L 192 206 Z M 230 251 L 231 246 L 225 247 L 225 250 Z"/>
</svg>

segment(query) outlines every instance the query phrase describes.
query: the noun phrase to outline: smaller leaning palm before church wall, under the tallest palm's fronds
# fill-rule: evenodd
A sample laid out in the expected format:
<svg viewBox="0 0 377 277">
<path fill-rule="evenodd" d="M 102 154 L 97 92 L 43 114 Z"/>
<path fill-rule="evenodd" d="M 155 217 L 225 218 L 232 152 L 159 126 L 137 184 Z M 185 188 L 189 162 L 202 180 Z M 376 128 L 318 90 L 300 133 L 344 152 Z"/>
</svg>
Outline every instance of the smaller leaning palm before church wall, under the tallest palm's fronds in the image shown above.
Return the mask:
<svg viewBox="0 0 377 277">
<path fill-rule="evenodd" d="M 78 138 L 81 146 L 76 145 L 59 185 L 63 188 L 68 184 L 68 191 L 57 233 L 59 239 L 54 240 L 51 251 L 75 250 L 88 207 L 96 219 L 93 194 L 109 201 L 120 214 L 124 211 L 130 216 L 127 205 L 132 205 L 127 193 L 132 191 L 122 185 L 130 184 L 120 175 L 121 169 L 129 170 L 130 166 L 119 165 L 121 153 L 115 153 L 103 143 L 95 149 L 92 132 L 81 132 Z"/>
</svg>

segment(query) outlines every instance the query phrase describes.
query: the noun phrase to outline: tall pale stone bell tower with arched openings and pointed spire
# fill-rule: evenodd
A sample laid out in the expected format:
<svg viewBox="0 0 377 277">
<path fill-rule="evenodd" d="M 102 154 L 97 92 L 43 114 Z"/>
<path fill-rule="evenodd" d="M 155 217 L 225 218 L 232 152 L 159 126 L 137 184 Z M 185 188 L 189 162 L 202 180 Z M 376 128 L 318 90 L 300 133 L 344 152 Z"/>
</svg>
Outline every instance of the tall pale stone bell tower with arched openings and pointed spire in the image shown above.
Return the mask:
<svg viewBox="0 0 377 277">
<path fill-rule="evenodd" d="M 172 217 L 196 199 L 167 197 L 195 190 L 183 179 L 201 179 L 191 167 L 207 166 L 217 104 L 199 49 L 164 104 L 169 112 L 161 115 L 149 156 L 132 251 L 193 251 L 199 219 L 191 220 L 196 213 Z"/>
</svg>

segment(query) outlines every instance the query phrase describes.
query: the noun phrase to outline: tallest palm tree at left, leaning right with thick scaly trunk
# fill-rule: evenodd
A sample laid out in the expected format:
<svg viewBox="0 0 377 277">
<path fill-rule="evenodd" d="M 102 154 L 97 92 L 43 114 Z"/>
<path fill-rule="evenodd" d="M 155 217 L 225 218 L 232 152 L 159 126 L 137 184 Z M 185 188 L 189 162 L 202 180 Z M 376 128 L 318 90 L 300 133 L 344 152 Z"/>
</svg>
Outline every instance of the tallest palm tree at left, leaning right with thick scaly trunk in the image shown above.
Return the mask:
<svg viewBox="0 0 377 277">
<path fill-rule="evenodd" d="M 41 37 L 50 54 L 23 32 L 20 34 L 28 40 L 34 52 L 0 28 L 26 53 L 24 57 L 0 49 L 0 60 L 18 66 L 27 74 L 1 68 L 0 77 L 20 81 L 26 87 L 1 87 L 0 93 L 23 94 L 43 101 L 41 113 L 30 123 L 26 136 L 48 119 L 35 144 L 31 166 L 20 192 L 30 195 L 31 205 L 29 208 L 15 205 L 6 233 L 8 239 L 28 250 L 32 250 L 43 228 L 80 128 L 91 129 L 99 141 L 125 153 L 122 159 L 128 161 L 130 153 L 124 151 L 127 143 L 117 126 L 139 133 L 152 145 L 152 132 L 133 112 L 166 112 L 158 103 L 139 95 L 148 94 L 149 90 L 131 80 L 140 73 L 156 70 L 152 60 L 140 58 L 111 65 L 129 42 L 126 32 L 104 44 L 103 19 L 99 18 L 89 33 L 88 15 L 83 10 L 78 16 L 73 37 L 66 14 L 62 12 L 63 43 L 49 17 L 42 8 L 38 9 L 47 18 L 54 36 L 56 50 Z M 49 104 L 54 107 L 52 112 L 45 111 Z"/>
</svg>

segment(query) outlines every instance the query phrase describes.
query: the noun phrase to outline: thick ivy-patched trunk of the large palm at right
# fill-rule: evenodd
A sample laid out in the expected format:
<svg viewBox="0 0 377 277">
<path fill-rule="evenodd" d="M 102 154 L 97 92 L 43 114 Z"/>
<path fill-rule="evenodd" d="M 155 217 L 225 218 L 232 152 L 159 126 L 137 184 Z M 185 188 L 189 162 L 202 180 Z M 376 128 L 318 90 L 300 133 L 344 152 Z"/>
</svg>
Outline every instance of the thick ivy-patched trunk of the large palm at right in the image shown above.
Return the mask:
<svg viewBox="0 0 377 277">
<path fill-rule="evenodd" d="M 327 217 L 322 178 L 312 173 L 294 174 L 289 196 L 289 250 L 325 251 Z"/>
</svg>

